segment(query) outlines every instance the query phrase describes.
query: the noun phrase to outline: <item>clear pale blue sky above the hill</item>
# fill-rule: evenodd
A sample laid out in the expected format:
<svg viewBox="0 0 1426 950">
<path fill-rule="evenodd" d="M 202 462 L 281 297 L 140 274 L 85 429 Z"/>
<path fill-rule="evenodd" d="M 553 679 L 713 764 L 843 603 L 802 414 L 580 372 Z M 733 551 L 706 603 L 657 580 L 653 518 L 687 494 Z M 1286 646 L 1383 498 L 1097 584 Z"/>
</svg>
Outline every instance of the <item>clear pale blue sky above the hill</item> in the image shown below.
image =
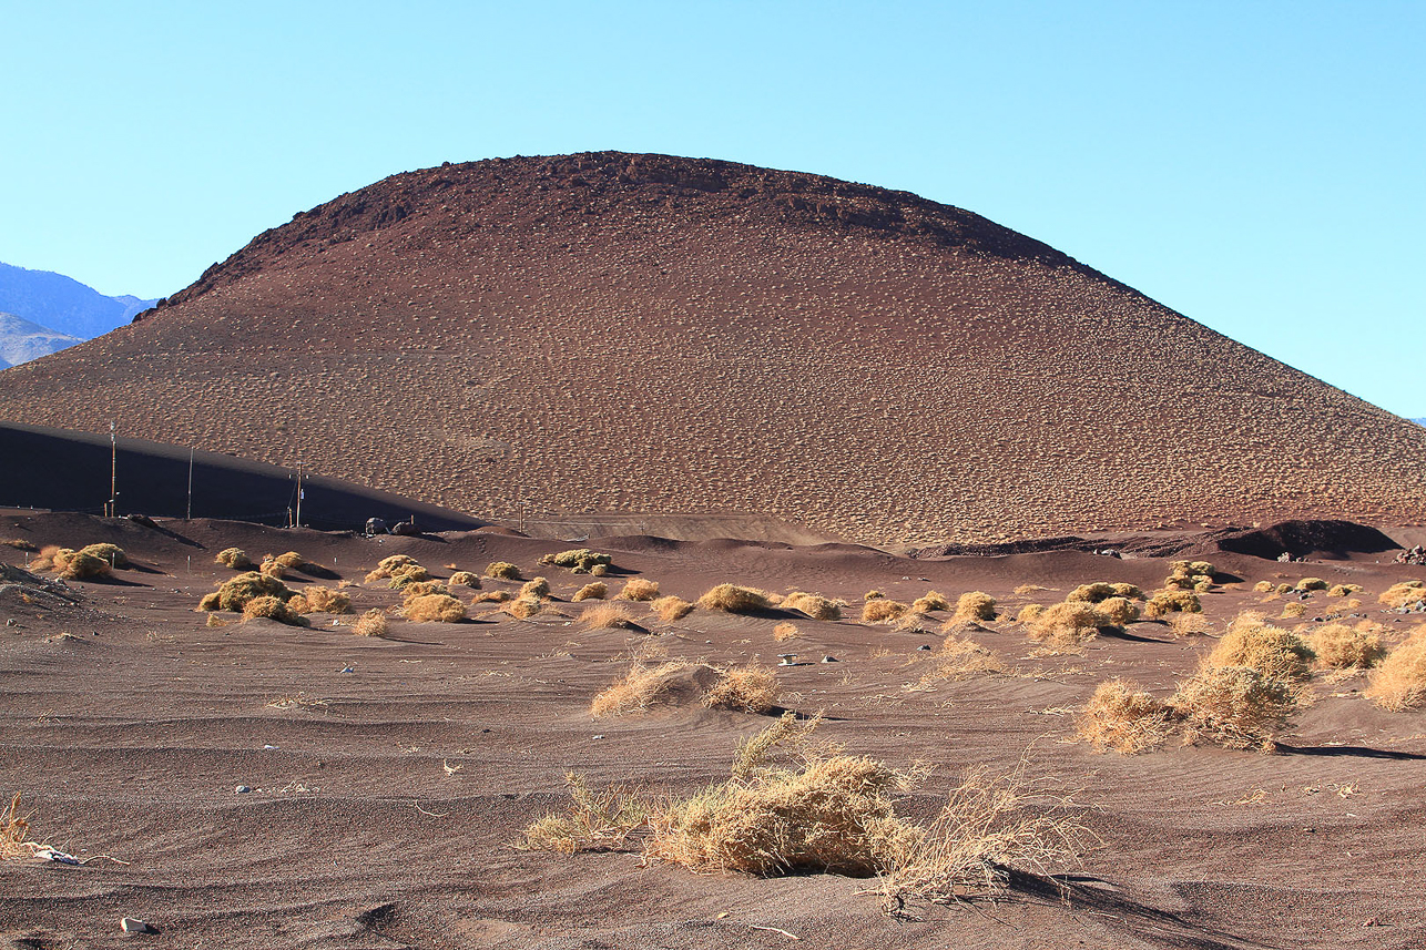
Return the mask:
<svg viewBox="0 0 1426 950">
<path fill-rule="evenodd" d="M 0 0 L 0 261 L 158 297 L 398 171 L 709 155 L 970 208 L 1426 415 L 1423 3 L 516 6 Z"/>
</svg>

